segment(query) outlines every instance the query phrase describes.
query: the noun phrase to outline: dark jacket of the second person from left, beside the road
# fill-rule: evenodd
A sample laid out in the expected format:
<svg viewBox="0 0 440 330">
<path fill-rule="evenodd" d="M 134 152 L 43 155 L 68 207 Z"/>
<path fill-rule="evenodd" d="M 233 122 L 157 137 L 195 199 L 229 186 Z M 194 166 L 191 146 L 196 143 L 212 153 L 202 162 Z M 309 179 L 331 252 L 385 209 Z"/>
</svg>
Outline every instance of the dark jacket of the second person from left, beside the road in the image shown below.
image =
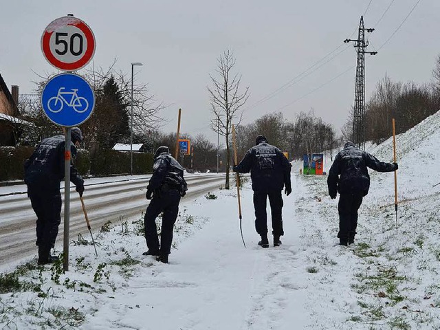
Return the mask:
<svg viewBox="0 0 440 330">
<path fill-rule="evenodd" d="M 165 191 L 177 189 L 180 195 L 184 195 L 188 190 L 184 179 L 184 168 L 169 153 L 160 153 L 154 159 L 153 175 L 146 189 Z"/>
</svg>

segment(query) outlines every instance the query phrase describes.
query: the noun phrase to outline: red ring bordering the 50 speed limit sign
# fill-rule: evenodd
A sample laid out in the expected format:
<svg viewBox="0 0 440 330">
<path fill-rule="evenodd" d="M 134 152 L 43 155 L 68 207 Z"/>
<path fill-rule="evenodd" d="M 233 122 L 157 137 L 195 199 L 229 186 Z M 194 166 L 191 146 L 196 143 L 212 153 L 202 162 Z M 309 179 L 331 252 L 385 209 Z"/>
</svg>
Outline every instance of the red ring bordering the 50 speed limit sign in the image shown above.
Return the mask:
<svg viewBox="0 0 440 330">
<path fill-rule="evenodd" d="M 83 21 L 80 21 L 80 19 L 78 19 L 78 21 L 76 23 L 70 23 L 67 25 L 76 26 L 76 28 L 83 31 L 83 33 L 85 34 L 85 37 L 87 39 L 87 50 L 85 51 L 85 54 L 83 55 L 83 57 L 81 57 L 78 61 L 76 61 L 74 63 L 64 63 L 62 61 L 59 61 L 58 58 L 56 58 L 52 54 L 52 52 L 50 52 L 49 42 L 50 42 L 50 37 L 52 36 L 52 34 L 54 32 L 45 31 L 45 33 L 43 34 L 43 39 L 41 41 L 41 44 L 43 47 L 43 54 L 45 55 L 47 61 L 49 61 L 50 64 L 54 65 L 54 67 L 57 67 L 58 69 L 61 69 L 61 70 L 75 71 L 75 70 L 81 69 L 82 67 L 87 65 L 87 63 L 89 63 L 89 61 L 91 60 L 91 57 L 94 56 L 95 38 L 94 38 L 94 34 L 93 34 L 93 32 L 91 32 L 91 29 L 89 28 L 89 26 L 86 23 L 84 23 Z"/>
</svg>

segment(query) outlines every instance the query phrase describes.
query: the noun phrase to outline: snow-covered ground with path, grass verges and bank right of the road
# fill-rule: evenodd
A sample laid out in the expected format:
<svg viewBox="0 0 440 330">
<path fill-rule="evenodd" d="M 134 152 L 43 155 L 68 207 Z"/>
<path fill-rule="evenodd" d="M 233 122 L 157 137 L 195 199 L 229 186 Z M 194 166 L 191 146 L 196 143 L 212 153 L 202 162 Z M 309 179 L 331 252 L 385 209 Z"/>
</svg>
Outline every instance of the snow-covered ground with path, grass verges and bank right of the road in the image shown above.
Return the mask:
<svg viewBox="0 0 440 330">
<path fill-rule="evenodd" d="M 142 219 L 73 238 L 61 265 L 3 269 L 4 329 L 440 329 L 440 113 L 397 137 L 393 173 L 371 173 L 350 247 L 336 245 L 337 199 L 327 177 L 292 170 L 285 236 L 259 248 L 250 182 L 182 199 L 168 265 L 146 250 Z M 367 151 L 393 159 L 392 140 Z M 326 163 L 328 170 L 331 162 Z M 58 237 L 59 250 L 62 250 Z M 11 273 L 14 272 L 14 273 Z M 7 284 L 7 285 L 6 285 Z"/>
</svg>

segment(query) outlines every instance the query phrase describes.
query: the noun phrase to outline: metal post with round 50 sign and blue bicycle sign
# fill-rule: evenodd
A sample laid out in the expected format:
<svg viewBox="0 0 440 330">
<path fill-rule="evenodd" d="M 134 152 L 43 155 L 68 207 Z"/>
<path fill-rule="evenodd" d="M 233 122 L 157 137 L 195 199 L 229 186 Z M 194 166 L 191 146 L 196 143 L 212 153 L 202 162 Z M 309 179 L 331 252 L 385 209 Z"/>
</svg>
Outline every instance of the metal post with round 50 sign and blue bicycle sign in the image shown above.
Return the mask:
<svg viewBox="0 0 440 330">
<path fill-rule="evenodd" d="M 62 71 L 74 72 L 91 61 L 95 54 L 94 33 L 85 22 L 73 17 L 60 17 L 45 28 L 41 50 L 46 60 Z M 89 83 L 76 74 L 58 74 L 47 81 L 41 93 L 41 107 L 54 124 L 65 127 L 64 152 L 64 240 L 63 268 L 69 270 L 70 166 L 72 164 L 71 127 L 91 116 L 95 94 Z"/>
</svg>

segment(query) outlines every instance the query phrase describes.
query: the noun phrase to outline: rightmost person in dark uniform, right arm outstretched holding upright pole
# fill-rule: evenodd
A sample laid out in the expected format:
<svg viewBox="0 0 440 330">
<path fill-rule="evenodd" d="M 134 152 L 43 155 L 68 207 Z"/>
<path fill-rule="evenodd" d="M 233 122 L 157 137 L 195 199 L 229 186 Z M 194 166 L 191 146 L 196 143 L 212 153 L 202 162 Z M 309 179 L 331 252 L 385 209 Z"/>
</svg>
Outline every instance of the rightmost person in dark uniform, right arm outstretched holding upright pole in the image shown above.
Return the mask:
<svg viewBox="0 0 440 330">
<path fill-rule="evenodd" d="M 356 227 L 358 226 L 358 209 L 362 198 L 369 193 L 370 176 L 367 167 L 378 172 L 397 170 L 397 163 L 380 162 L 366 151 L 356 148 L 353 142 L 347 142 L 344 149 L 336 155 L 329 170 L 327 186 L 331 199 L 340 193 L 339 232 L 340 245 L 354 243 Z"/>
</svg>

